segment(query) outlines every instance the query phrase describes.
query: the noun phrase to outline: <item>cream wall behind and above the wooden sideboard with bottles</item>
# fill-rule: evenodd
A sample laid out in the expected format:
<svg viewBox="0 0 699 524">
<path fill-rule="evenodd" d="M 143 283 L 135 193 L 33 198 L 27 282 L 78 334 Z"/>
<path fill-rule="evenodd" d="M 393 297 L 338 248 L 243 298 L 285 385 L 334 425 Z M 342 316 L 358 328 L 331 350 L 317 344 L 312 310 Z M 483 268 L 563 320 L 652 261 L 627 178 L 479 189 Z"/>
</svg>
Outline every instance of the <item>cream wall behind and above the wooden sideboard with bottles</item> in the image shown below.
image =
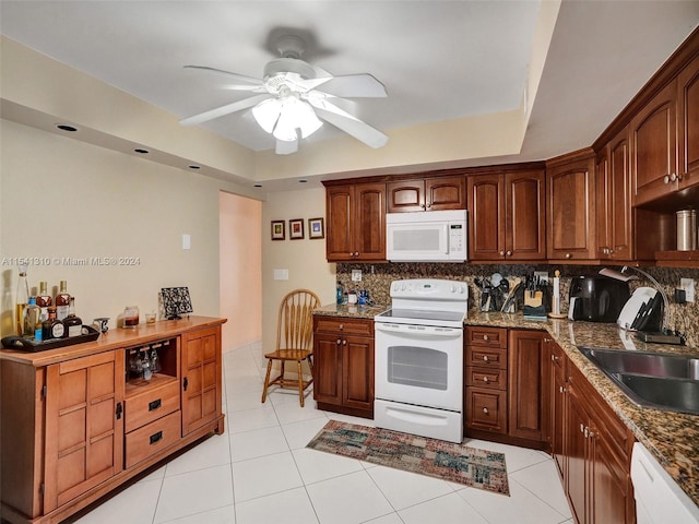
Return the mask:
<svg viewBox="0 0 699 524">
<path fill-rule="evenodd" d="M 3 335 L 12 332 L 19 257 L 34 259 L 32 287 L 67 279 L 83 320 L 110 317 L 114 327 L 127 305 L 138 305 L 142 315 L 156 309 L 167 286 L 188 286 L 194 313 L 218 315 L 218 193 L 236 186 L 0 124 Z M 191 236 L 190 250 L 181 249 L 182 234 Z"/>
</svg>

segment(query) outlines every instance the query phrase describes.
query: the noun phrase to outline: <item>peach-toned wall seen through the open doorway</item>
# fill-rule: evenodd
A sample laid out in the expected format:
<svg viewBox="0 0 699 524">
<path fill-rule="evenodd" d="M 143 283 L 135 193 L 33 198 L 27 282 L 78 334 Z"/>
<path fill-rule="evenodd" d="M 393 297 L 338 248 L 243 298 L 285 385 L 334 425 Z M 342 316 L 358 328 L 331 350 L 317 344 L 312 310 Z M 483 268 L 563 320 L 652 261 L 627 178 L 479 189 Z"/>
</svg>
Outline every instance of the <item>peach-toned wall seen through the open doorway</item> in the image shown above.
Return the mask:
<svg viewBox="0 0 699 524">
<path fill-rule="evenodd" d="M 223 349 L 262 340 L 262 203 L 221 192 L 220 271 Z"/>
</svg>

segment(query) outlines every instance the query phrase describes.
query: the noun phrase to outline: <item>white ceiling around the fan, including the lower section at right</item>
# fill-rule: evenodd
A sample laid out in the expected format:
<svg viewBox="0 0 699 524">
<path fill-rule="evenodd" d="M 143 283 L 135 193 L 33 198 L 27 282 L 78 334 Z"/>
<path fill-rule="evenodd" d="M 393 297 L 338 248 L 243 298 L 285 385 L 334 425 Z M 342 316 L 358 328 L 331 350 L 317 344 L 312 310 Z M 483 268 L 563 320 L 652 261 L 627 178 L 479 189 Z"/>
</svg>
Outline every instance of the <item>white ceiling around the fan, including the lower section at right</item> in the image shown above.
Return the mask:
<svg viewBox="0 0 699 524">
<path fill-rule="evenodd" d="M 187 117 L 247 95 L 222 88 L 223 76 L 183 66 L 260 78 L 277 56 L 271 35 L 291 28 L 307 39 L 307 61 L 333 74 L 368 72 L 387 86 L 388 98 L 359 99 L 355 115 L 388 131 L 519 107 L 540 7 L 538 0 L 2 0 L 0 29 Z M 564 1 L 523 150 L 512 159 L 591 145 L 698 24 L 694 0 Z M 205 126 L 254 151 L 274 147 L 249 110 Z M 311 139 L 336 135 L 325 124 Z"/>
</svg>

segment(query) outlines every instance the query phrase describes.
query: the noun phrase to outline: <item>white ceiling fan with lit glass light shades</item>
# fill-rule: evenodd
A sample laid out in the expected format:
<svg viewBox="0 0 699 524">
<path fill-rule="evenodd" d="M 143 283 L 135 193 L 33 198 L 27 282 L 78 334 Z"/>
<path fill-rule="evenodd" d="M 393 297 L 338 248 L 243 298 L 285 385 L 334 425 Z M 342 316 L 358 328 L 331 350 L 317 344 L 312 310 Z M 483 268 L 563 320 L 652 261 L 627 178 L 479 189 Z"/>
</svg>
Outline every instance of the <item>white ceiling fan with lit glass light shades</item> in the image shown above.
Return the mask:
<svg viewBox="0 0 699 524">
<path fill-rule="evenodd" d="M 276 139 L 277 154 L 295 153 L 299 138 L 305 139 L 320 129 L 322 120 L 370 147 L 386 145 L 386 134 L 336 105 L 346 102 L 344 98 L 386 97 L 381 82 L 369 73 L 333 76 L 311 66 L 301 60 L 304 40 L 298 36 L 280 37 L 276 48 L 281 58 L 264 66 L 262 80 L 203 66 L 185 66 L 224 74 L 238 82 L 225 88 L 254 95 L 185 118 L 180 123 L 196 126 L 252 108 L 252 116 L 260 127 Z M 319 90 L 321 86 L 322 91 Z"/>
</svg>

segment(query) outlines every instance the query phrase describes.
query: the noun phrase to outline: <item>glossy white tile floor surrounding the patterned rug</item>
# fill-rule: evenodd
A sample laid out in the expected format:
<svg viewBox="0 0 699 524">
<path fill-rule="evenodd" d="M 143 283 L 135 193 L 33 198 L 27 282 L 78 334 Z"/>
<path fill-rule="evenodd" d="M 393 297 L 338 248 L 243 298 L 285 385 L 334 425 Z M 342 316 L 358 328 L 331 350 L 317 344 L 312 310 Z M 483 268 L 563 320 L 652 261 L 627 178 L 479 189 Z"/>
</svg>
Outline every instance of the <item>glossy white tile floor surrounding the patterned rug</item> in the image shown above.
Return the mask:
<svg viewBox="0 0 699 524">
<path fill-rule="evenodd" d="M 292 391 L 260 403 L 259 345 L 224 354 L 226 432 L 133 484 L 80 524 L 572 523 L 550 457 L 479 440 L 506 454 L 510 497 L 307 450 L 328 419 L 371 420 L 298 405 Z"/>
</svg>

